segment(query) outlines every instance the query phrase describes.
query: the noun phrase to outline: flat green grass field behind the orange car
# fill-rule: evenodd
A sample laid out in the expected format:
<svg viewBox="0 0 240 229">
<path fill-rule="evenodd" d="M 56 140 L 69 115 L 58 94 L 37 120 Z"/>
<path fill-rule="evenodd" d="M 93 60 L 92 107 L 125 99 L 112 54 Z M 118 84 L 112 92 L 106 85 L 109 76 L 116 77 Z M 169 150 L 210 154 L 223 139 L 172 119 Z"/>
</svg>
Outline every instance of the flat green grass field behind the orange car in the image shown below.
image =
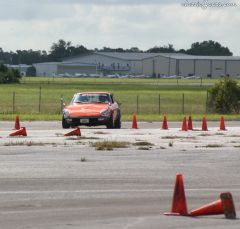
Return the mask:
<svg viewBox="0 0 240 229">
<path fill-rule="evenodd" d="M 79 91 L 113 92 L 124 121 L 132 120 L 134 112 L 142 121 L 161 121 L 162 114 L 179 121 L 183 112 L 201 120 L 207 89 L 215 82 L 204 79 L 201 86 L 200 80 L 25 77 L 20 84 L 0 84 L 0 120 L 13 120 L 15 114 L 21 114 L 22 120 L 61 120 L 61 97 L 68 104 Z M 208 120 L 219 117 L 207 116 Z M 240 116 L 225 119 L 240 120 Z"/>
</svg>

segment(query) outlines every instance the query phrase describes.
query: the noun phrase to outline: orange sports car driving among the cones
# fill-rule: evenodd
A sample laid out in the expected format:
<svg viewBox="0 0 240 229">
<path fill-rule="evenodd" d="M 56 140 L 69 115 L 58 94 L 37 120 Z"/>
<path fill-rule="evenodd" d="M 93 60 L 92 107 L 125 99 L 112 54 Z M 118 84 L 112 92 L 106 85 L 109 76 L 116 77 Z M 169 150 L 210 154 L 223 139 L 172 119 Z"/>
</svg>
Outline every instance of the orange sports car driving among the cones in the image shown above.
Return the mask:
<svg viewBox="0 0 240 229">
<path fill-rule="evenodd" d="M 121 128 L 121 110 L 110 92 L 76 93 L 63 109 L 62 127 L 80 125 Z"/>
</svg>

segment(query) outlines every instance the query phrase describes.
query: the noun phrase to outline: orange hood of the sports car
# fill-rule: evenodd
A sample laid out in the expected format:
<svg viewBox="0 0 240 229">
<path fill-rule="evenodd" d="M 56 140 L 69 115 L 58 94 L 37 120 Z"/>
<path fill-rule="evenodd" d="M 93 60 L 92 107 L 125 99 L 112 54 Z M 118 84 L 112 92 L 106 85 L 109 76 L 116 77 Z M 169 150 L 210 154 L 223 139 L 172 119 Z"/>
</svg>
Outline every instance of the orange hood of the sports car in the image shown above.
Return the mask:
<svg viewBox="0 0 240 229">
<path fill-rule="evenodd" d="M 70 112 L 71 117 L 79 116 L 100 116 L 102 110 L 108 109 L 108 104 L 102 103 L 91 103 L 91 104 L 73 104 L 66 106 L 64 109 L 67 109 Z"/>
</svg>

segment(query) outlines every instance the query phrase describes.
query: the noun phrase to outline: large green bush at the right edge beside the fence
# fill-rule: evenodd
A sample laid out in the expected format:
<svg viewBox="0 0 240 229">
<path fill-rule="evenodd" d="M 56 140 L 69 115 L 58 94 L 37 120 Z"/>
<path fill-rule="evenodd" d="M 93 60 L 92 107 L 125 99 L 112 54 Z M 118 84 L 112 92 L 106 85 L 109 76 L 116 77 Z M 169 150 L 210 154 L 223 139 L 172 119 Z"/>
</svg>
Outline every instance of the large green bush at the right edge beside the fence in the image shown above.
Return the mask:
<svg viewBox="0 0 240 229">
<path fill-rule="evenodd" d="M 236 80 L 225 77 L 209 90 L 208 106 L 217 113 L 239 113 L 240 87 Z"/>
</svg>

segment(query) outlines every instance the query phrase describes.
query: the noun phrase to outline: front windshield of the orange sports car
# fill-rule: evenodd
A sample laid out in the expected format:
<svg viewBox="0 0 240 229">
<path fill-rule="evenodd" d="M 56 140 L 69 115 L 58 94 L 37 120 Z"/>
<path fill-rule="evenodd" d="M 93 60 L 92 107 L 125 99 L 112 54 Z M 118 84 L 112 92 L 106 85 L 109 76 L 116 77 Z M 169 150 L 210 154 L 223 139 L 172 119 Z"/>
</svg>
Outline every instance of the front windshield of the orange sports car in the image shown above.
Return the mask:
<svg viewBox="0 0 240 229">
<path fill-rule="evenodd" d="M 74 103 L 109 103 L 108 94 L 78 94 L 73 99 Z"/>
</svg>

